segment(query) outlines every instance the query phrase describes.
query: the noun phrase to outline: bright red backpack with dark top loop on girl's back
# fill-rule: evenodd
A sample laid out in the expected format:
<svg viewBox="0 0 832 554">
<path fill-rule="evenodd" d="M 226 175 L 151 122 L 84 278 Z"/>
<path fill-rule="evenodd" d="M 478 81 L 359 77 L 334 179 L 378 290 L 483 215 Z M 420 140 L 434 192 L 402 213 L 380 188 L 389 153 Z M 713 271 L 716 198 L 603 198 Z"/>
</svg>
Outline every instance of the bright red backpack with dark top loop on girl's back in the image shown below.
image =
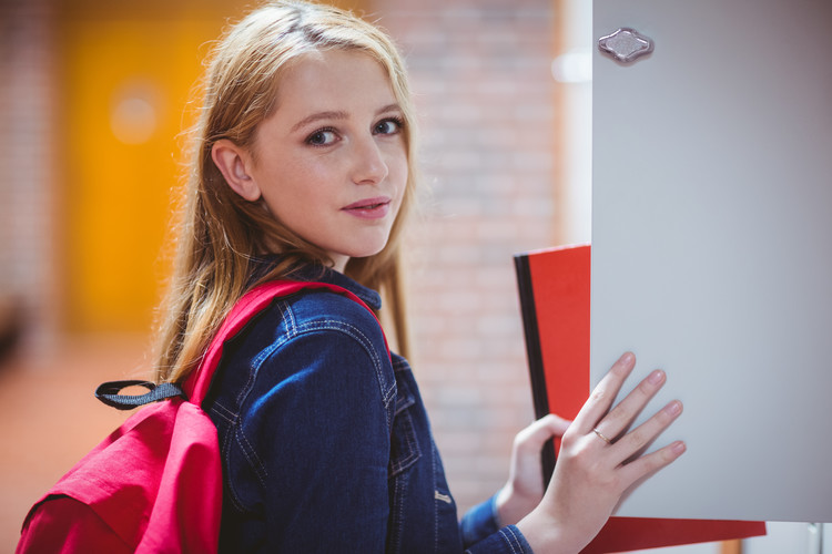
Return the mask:
<svg viewBox="0 0 832 554">
<path fill-rule="evenodd" d="M 245 294 L 223 321 L 200 368 L 180 388 L 115 381 L 95 391 L 131 416 L 40 500 L 23 522 L 18 553 L 214 553 L 222 513 L 222 464 L 216 428 L 201 404 L 223 343 L 277 297 L 303 288 L 358 297 L 323 283 L 274 281 Z M 372 312 L 372 310 L 371 310 Z M 119 394 L 142 384 L 150 392 Z"/>
</svg>

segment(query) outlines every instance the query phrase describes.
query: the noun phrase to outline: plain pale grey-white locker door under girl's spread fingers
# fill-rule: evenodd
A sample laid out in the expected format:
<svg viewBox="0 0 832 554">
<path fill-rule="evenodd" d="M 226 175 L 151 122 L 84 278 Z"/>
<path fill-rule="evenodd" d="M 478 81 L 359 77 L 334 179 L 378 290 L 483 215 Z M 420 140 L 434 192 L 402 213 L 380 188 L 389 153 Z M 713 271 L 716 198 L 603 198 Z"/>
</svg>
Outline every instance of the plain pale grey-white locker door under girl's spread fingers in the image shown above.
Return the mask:
<svg viewBox="0 0 832 554">
<path fill-rule="evenodd" d="M 593 54 L 591 371 L 666 369 L 688 452 L 618 514 L 832 522 L 832 2 L 595 0 L 619 28 L 655 48 Z"/>
</svg>

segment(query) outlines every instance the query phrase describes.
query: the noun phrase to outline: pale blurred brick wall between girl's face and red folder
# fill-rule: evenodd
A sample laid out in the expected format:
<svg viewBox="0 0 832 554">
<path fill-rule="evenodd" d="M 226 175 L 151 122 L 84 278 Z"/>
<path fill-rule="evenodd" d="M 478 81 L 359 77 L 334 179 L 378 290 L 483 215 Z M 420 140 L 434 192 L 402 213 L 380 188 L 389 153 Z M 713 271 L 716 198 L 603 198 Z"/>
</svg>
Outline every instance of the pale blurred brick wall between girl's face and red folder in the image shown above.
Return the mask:
<svg viewBox="0 0 832 554">
<path fill-rule="evenodd" d="M 414 370 L 460 512 L 534 419 L 513 255 L 552 245 L 551 0 L 376 0 L 406 57 L 430 196 L 412 239 Z"/>
</svg>

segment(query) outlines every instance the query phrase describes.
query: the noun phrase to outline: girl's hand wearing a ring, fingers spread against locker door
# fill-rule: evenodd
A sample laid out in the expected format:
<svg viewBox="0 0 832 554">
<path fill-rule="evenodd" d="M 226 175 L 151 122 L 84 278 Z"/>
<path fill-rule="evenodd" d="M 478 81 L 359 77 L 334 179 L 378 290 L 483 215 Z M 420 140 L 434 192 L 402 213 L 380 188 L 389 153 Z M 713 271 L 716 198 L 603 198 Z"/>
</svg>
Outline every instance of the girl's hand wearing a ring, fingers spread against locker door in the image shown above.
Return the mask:
<svg viewBox="0 0 832 554">
<path fill-rule="evenodd" d="M 580 552 L 601 530 L 627 489 L 684 452 L 684 443 L 677 441 L 639 455 L 681 413 L 682 404 L 672 401 L 628 431 L 666 380 L 662 371 L 651 372 L 613 408 L 612 401 L 635 365 L 636 357 L 625 353 L 564 433 L 549 489 L 540 504 L 518 523 L 536 552 Z"/>
</svg>

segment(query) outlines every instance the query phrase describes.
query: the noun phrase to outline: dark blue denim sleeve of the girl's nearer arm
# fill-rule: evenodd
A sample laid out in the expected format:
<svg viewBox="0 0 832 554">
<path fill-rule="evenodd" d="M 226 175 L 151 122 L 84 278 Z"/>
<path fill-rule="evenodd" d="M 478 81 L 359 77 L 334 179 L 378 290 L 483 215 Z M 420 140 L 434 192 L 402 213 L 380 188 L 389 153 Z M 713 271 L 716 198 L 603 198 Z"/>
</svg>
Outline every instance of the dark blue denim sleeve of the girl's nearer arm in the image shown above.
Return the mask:
<svg viewBox="0 0 832 554">
<path fill-rule="evenodd" d="M 395 399 L 386 351 L 379 363 L 377 346 L 343 322 L 298 330 L 263 360 L 246 412 L 267 547 L 384 552 Z"/>
</svg>

